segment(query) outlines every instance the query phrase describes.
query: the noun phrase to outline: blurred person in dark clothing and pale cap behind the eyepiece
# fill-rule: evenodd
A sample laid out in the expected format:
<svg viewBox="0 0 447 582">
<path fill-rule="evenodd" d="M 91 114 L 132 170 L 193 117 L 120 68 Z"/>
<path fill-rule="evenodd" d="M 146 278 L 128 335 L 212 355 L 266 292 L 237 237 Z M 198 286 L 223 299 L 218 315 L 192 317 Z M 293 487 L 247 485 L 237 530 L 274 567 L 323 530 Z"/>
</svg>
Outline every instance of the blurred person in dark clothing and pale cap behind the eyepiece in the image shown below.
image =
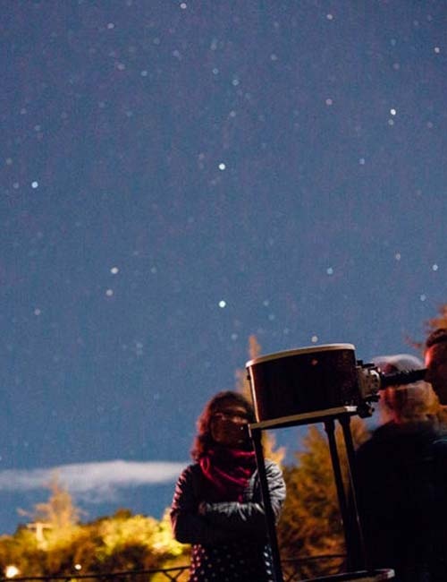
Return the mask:
<svg viewBox="0 0 447 582">
<path fill-rule="evenodd" d="M 415 356 L 375 359 L 385 373 L 422 368 Z M 447 441 L 425 381 L 393 386 L 381 406 L 391 415 L 356 458 L 358 511 L 373 568 L 399 582 L 447 580 Z"/>
</svg>

